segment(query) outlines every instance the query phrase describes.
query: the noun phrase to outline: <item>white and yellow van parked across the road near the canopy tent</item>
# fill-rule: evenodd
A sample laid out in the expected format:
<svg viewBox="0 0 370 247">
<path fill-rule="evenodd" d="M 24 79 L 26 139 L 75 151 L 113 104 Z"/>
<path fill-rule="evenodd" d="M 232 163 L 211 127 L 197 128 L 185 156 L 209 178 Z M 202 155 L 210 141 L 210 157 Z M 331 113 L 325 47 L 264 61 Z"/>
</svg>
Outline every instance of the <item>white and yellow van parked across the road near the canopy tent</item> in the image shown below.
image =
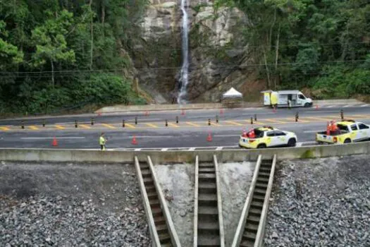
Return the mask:
<svg viewBox="0 0 370 247">
<path fill-rule="evenodd" d="M 303 95 L 299 90 L 262 91 L 264 106 L 273 107 L 312 107 L 312 99 Z"/>
</svg>

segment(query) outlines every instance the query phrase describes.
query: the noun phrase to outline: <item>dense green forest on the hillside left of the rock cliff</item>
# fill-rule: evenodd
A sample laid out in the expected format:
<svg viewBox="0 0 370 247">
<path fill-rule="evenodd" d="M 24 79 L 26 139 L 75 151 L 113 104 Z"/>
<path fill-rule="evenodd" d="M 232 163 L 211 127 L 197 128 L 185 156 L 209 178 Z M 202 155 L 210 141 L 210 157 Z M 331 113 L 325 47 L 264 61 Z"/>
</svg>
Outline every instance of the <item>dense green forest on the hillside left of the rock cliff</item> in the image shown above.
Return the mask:
<svg viewBox="0 0 370 247">
<path fill-rule="evenodd" d="M 143 0 L 0 0 L 0 114 L 143 100 L 129 78 Z"/>
</svg>

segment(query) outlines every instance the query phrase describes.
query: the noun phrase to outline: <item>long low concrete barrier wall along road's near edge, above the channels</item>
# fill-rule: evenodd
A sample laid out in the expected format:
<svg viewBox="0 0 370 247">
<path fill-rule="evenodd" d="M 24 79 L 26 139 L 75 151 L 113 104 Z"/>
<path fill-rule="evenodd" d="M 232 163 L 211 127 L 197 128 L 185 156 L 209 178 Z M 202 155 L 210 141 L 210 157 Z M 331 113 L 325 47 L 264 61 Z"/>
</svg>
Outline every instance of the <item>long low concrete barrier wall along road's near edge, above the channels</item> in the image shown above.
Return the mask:
<svg viewBox="0 0 370 247">
<path fill-rule="evenodd" d="M 257 160 L 258 155 L 272 159 L 300 159 L 331 157 L 343 155 L 362 155 L 370 153 L 370 142 L 350 143 L 346 145 L 318 145 L 295 148 L 271 148 L 265 150 L 199 150 L 199 151 L 95 151 L 95 150 L 41 150 L 41 149 L 0 149 L 0 160 L 23 162 L 118 162 L 133 163 L 135 155 L 140 161 L 147 161 L 147 155 L 154 164 L 194 163 L 199 155 L 202 162 L 213 162 L 216 155 L 218 162 L 242 162 Z"/>
</svg>

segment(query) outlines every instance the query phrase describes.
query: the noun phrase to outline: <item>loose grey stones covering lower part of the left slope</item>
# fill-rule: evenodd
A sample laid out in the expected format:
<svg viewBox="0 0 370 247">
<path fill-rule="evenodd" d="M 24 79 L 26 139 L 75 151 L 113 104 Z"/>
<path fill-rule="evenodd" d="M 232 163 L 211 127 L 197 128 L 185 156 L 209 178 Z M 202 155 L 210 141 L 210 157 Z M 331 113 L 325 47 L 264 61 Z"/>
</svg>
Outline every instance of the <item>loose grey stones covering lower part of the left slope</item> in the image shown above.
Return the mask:
<svg viewBox="0 0 370 247">
<path fill-rule="evenodd" d="M 2 198 L 0 208 L 1 246 L 149 246 L 137 208 L 102 212 L 90 201 L 61 196 Z"/>
</svg>

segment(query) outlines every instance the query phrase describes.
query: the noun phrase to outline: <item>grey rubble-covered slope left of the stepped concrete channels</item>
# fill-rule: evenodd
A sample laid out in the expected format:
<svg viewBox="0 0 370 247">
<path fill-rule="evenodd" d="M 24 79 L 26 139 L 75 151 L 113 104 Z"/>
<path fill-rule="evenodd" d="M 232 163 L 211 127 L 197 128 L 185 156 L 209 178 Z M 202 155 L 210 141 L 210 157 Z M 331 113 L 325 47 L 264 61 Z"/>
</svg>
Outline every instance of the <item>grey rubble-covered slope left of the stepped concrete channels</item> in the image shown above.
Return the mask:
<svg viewBox="0 0 370 247">
<path fill-rule="evenodd" d="M 149 246 L 135 169 L 0 165 L 0 246 Z"/>
</svg>

